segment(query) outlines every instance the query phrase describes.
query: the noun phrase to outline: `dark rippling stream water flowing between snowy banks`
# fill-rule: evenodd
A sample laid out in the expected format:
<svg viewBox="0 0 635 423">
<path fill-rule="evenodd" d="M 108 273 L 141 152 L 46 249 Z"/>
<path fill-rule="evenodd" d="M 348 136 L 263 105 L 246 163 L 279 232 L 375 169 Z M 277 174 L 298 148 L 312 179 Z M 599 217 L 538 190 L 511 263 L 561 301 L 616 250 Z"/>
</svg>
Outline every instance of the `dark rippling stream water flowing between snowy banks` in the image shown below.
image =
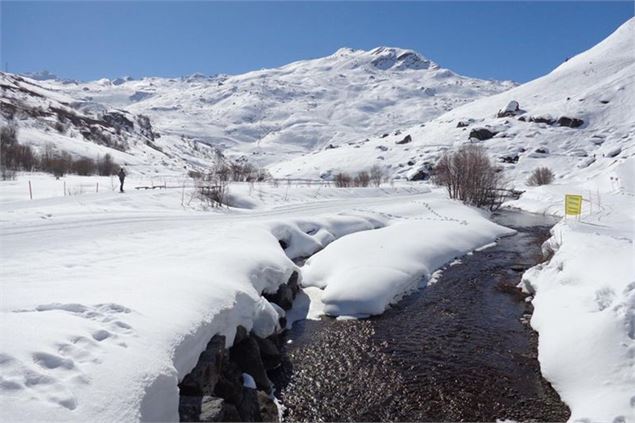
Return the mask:
<svg viewBox="0 0 635 423">
<path fill-rule="evenodd" d="M 515 288 L 552 221 L 506 212 L 518 233 L 367 320 L 298 322 L 271 375 L 289 421 L 565 421 L 541 377 L 531 305 Z"/>
</svg>

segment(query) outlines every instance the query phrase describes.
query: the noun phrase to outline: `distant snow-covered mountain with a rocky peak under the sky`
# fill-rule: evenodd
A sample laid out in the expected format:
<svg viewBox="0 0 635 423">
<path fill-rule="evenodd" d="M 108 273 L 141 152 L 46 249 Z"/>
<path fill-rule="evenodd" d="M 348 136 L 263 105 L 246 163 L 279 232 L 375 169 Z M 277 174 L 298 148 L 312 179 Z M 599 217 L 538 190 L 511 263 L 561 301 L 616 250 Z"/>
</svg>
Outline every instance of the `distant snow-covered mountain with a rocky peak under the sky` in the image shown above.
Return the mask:
<svg viewBox="0 0 635 423">
<path fill-rule="evenodd" d="M 419 124 L 514 86 L 460 76 L 411 50 L 387 47 L 343 48 L 236 76 L 86 83 L 47 77 L 37 84 L 84 112 L 114 108 L 148 116 L 161 135 L 157 145 L 173 158 L 192 163 L 190 156 L 200 156 L 195 150 L 206 151 L 201 145 L 207 144 L 261 164 Z"/>
</svg>

